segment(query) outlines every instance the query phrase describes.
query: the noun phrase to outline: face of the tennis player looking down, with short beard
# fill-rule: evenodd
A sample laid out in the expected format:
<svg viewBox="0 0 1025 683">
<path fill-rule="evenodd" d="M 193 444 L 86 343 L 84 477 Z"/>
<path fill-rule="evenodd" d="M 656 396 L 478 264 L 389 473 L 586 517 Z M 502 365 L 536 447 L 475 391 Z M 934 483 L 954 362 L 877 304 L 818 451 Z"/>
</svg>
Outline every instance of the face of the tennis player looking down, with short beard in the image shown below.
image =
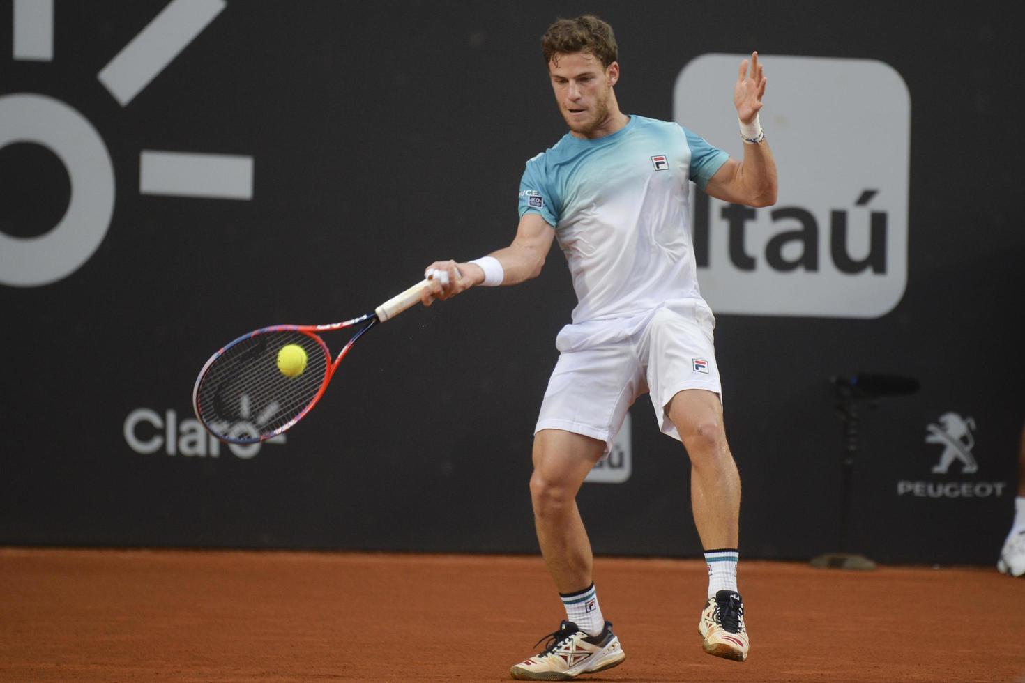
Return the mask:
<svg viewBox="0 0 1025 683">
<path fill-rule="evenodd" d="M 559 111 L 571 131 L 589 137 L 608 121 L 618 62 L 604 68 L 590 52 L 560 53 L 548 61 L 548 75 Z"/>
</svg>

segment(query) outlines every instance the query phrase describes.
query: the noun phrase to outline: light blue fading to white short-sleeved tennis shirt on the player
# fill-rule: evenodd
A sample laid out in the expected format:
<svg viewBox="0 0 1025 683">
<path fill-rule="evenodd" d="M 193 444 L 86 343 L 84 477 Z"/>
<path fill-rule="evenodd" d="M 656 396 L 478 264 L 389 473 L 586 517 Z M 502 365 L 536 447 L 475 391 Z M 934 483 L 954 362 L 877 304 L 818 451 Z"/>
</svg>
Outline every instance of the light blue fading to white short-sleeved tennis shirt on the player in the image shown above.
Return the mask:
<svg viewBox="0 0 1025 683">
<path fill-rule="evenodd" d="M 701 299 L 687 181 L 704 189 L 728 158 L 675 123 L 631 116 L 598 139 L 567 133 L 527 162 L 520 216 L 556 228 L 577 295 L 574 324 Z"/>
</svg>

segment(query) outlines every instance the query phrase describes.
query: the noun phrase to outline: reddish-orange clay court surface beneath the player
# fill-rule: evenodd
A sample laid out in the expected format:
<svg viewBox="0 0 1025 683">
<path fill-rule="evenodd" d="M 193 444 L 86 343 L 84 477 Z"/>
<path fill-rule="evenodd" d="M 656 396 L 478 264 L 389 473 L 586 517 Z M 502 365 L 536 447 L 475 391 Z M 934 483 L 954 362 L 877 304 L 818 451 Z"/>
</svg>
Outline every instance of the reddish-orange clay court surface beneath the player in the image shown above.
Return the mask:
<svg viewBox="0 0 1025 683">
<path fill-rule="evenodd" d="M 700 560 L 599 558 L 627 653 L 581 681 L 1025 682 L 1025 581 L 742 561 L 751 654 L 701 650 Z M 562 607 L 540 557 L 0 550 L 0 680 L 502 681 Z"/>
</svg>

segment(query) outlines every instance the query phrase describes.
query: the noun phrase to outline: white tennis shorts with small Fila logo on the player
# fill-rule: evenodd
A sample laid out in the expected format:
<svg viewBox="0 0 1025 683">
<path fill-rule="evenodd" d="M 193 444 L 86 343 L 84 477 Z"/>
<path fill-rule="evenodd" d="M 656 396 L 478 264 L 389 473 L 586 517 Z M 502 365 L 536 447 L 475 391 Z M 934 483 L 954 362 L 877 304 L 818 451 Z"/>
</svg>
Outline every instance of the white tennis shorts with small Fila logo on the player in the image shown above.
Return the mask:
<svg viewBox="0 0 1025 683">
<path fill-rule="evenodd" d="M 667 302 L 629 318 L 567 325 L 556 339 L 559 361 L 548 380 L 536 434 L 562 429 L 605 441 L 605 453 L 639 396 L 651 394 L 663 434 L 680 440 L 665 407 L 684 389 L 721 397 L 712 331 L 700 299 Z"/>
</svg>

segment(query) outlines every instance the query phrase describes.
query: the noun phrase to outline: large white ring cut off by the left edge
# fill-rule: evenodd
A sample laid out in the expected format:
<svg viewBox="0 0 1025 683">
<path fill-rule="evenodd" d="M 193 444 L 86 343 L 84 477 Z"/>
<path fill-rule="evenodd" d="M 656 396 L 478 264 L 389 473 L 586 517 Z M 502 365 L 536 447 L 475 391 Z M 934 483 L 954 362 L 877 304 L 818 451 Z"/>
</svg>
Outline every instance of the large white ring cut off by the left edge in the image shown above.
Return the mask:
<svg viewBox="0 0 1025 683">
<path fill-rule="evenodd" d="M 41 144 L 56 155 L 71 180 L 71 201 L 44 234 L 0 232 L 0 284 L 49 285 L 78 270 L 107 236 L 114 216 L 114 164 L 92 124 L 46 95 L 0 96 L 0 148 L 13 142 Z"/>
</svg>

